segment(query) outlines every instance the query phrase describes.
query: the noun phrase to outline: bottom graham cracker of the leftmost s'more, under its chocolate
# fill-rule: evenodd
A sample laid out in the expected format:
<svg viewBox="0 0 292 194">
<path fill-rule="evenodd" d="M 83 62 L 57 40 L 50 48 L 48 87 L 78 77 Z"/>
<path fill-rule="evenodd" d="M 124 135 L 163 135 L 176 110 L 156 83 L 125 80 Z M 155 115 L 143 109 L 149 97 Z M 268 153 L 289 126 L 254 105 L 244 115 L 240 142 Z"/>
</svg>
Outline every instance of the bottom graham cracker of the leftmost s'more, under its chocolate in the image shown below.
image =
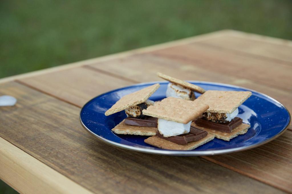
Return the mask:
<svg viewBox="0 0 292 194">
<path fill-rule="evenodd" d="M 140 135 L 140 136 L 155 136 L 157 127 L 139 127 L 133 125 L 127 125 L 124 123 L 125 120 L 120 122 L 112 131 L 116 134 L 125 135 Z"/>
</svg>

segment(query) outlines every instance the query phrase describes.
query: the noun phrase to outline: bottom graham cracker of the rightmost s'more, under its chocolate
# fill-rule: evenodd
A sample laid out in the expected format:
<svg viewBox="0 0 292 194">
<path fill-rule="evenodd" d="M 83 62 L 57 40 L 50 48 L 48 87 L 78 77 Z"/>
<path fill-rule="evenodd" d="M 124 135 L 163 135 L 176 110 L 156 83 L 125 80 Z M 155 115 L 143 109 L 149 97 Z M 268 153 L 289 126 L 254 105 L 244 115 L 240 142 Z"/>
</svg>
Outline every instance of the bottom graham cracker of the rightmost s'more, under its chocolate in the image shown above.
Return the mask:
<svg viewBox="0 0 292 194">
<path fill-rule="evenodd" d="M 214 135 L 215 138 L 223 139 L 225 141 L 229 141 L 232 138 L 237 137 L 238 135 L 246 134 L 247 130 L 251 127 L 249 124 L 242 123 L 238 127 L 232 129 L 231 133 L 225 133 L 225 132 L 221 132 L 221 131 L 216 131 L 214 129 L 208 129 L 205 127 L 201 127 L 201 126 L 195 124 L 194 122 L 192 122 L 191 126 L 197 128 L 197 129 L 207 131 L 208 134 Z"/>
</svg>

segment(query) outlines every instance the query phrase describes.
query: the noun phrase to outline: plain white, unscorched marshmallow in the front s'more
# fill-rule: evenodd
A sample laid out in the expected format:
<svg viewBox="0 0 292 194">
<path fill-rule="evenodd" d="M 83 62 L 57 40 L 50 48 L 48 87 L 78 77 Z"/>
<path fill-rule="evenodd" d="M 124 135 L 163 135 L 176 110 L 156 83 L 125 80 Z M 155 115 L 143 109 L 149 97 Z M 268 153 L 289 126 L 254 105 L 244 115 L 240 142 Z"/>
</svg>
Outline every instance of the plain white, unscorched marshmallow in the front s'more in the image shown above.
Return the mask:
<svg viewBox="0 0 292 194">
<path fill-rule="evenodd" d="M 168 121 L 161 118 L 159 118 L 157 122 L 158 122 L 158 131 L 164 137 L 187 134 L 190 132 L 190 127 L 192 123 L 192 121 L 190 121 L 187 124 L 183 124 L 179 122 Z"/>
</svg>

